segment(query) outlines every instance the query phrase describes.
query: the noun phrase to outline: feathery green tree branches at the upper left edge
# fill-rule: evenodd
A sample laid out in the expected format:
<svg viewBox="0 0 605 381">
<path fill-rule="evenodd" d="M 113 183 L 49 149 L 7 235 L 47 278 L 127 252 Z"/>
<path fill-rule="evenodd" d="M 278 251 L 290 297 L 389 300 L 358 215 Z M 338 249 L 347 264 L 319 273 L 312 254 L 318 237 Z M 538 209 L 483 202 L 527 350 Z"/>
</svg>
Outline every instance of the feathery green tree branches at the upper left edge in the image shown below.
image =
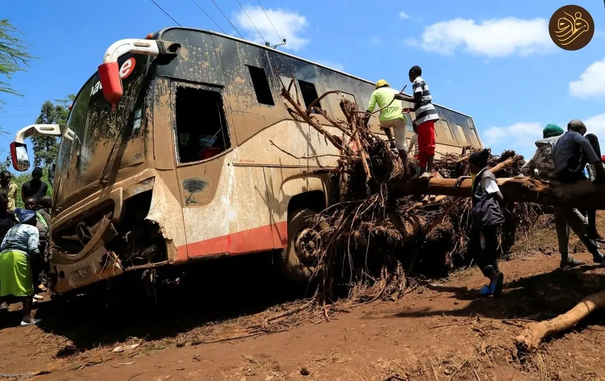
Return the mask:
<svg viewBox="0 0 605 381">
<path fill-rule="evenodd" d="M 22 96 L 13 89 L 7 80 L 19 71 L 25 71 L 31 59 L 36 57 L 27 53 L 27 44 L 17 34 L 21 34 L 7 19 L 0 20 L 0 93 Z M 3 77 L 5 79 L 3 79 Z M 0 99 L 0 104 L 4 103 Z"/>
</svg>

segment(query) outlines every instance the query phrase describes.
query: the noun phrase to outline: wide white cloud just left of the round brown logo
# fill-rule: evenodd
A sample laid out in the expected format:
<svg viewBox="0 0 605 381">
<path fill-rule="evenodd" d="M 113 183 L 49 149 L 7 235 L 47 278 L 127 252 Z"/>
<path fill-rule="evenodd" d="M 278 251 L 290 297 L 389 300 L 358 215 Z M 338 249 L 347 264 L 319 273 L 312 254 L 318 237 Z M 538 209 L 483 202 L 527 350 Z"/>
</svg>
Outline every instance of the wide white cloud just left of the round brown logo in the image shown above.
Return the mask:
<svg viewBox="0 0 605 381">
<path fill-rule="evenodd" d="M 477 55 L 504 57 L 543 53 L 554 44 L 548 34 L 548 22 L 542 18 L 491 19 L 479 24 L 459 18 L 426 27 L 421 46 L 446 55 L 463 48 Z"/>
</svg>

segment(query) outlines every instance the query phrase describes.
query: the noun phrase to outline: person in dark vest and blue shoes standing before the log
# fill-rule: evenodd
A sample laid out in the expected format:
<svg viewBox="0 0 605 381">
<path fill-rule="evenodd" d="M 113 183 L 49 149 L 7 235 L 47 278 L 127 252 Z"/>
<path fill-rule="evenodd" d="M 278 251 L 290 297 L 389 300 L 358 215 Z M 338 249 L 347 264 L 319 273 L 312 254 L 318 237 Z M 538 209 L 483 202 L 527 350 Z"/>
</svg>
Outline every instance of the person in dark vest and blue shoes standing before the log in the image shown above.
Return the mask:
<svg viewBox="0 0 605 381">
<path fill-rule="evenodd" d="M 504 223 L 500 201 L 504 200 L 495 175 L 488 169 L 489 149 L 473 152 L 468 158 L 471 176 L 457 178 L 454 187 L 459 187 L 466 178 L 473 180 L 471 230 L 469 249 L 473 258 L 489 279 L 489 284 L 479 290 L 481 296 L 497 298 L 502 293 L 504 274 L 498 267 L 498 227 Z"/>
</svg>

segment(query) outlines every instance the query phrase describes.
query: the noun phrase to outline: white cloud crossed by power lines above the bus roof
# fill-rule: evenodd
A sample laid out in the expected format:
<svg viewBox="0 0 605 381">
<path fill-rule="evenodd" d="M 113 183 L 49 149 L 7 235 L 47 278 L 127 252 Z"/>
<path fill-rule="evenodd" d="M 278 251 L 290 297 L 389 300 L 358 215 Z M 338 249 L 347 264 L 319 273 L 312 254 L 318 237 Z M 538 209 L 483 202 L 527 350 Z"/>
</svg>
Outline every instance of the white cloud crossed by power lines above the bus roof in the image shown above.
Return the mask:
<svg viewBox="0 0 605 381">
<path fill-rule="evenodd" d="M 278 34 L 281 38 L 286 39 L 286 47 L 293 51 L 301 50 L 309 43 L 308 39 L 301 36 L 308 25 L 305 16 L 301 16 L 296 12 L 270 8 L 266 9 L 267 15 L 265 15 L 261 7 L 246 6 L 244 10 L 246 10 L 247 16 L 244 11 L 240 11 L 240 13 L 235 15 L 235 22 L 238 24 L 238 27 L 246 31 L 247 38 L 250 40 L 264 44 L 265 41 L 258 35 L 256 30 L 258 28 L 263 37 L 272 45 L 281 43 Z M 252 25 L 248 16 L 250 16 L 254 25 Z M 273 22 L 273 25 L 271 25 L 269 19 Z M 273 26 L 277 30 L 277 33 L 273 30 Z"/>
</svg>

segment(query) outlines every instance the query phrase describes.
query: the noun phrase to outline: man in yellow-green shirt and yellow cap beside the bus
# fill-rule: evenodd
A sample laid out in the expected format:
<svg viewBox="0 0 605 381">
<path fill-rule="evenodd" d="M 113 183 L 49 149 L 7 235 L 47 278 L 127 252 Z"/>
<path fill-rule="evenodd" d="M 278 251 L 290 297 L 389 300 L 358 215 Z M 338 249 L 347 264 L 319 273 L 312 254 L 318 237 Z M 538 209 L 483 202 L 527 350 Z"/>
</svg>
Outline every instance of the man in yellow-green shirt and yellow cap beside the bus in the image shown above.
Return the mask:
<svg viewBox="0 0 605 381">
<path fill-rule="evenodd" d="M 379 109 L 383 109 L 380 112 L 380 124 L 381 128 L 387 134 L 388 139 L 391 142 L 391 148 L 393 148 L 393 137 L 391 136 L 390 129 L 393 128 L 395 135 L 394 146 L 399 151 L 399 157 L 401 162 L 404 164 L 404 171 L 408 173 L 408 147 L 405 142 L 405 130 L 406 130 L 406 119 L 402 114 L 401 100 L 394 99 L 395 94 L 399 91 L 391 88 L 387 81 L 384 79 L 376 82 L 376 90 L 370 96 L 370 102 L 366 112 L 373 112 L 376 105 Z"/>
</svg>

